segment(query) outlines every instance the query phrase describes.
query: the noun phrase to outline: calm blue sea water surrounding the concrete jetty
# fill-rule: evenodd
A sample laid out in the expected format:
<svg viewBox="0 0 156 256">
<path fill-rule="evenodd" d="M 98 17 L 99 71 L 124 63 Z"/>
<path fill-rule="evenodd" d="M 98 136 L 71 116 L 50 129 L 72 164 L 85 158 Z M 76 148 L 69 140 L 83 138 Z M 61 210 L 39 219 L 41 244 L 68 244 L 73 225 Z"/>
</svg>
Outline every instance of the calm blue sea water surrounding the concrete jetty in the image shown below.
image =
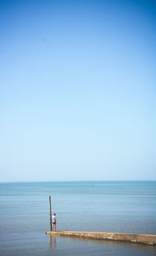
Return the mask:
<svg viewBox="0 0 156 256">
<path fill-rule="evenodd" d="M 0 183 L 0 255 L 156 255 L 154 246 L 46 236 L 49 195 L 58 230 L 156 234 L 156 181 Z"/>
</svg>

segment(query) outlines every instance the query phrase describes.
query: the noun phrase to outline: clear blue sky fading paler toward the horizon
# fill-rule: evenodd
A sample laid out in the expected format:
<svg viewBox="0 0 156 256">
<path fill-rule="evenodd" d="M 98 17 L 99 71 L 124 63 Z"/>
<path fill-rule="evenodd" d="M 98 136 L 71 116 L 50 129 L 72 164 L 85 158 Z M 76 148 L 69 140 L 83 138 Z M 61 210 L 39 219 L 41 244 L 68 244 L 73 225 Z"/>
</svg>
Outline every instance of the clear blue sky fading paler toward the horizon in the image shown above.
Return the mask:
<svg viewBox="0 0 156 256">
<path fill-rule="evenodd" d="M 0 182 L 156 180 L 156 2 L 0 0 Z"/>
</svg>

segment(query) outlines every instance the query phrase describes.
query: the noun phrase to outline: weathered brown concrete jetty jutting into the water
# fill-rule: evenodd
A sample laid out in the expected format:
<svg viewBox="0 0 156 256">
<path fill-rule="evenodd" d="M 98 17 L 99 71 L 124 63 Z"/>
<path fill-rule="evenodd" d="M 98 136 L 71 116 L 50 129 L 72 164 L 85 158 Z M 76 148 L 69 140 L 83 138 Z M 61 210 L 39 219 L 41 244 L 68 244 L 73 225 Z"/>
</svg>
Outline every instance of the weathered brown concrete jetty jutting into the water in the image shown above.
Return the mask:
<svg viewBox="0 0 156 256">
<path fill-rule="evenodd" d="M 116 240 L 139 244 L 156 244 L 156 235 L 131 234 L 131 233 L 102 233 L 102 232 L 77 232 L 77 231 L 49 231 L 48 236 L 70 236 L 90 238 L 96 240 Z"/>
</svg>

